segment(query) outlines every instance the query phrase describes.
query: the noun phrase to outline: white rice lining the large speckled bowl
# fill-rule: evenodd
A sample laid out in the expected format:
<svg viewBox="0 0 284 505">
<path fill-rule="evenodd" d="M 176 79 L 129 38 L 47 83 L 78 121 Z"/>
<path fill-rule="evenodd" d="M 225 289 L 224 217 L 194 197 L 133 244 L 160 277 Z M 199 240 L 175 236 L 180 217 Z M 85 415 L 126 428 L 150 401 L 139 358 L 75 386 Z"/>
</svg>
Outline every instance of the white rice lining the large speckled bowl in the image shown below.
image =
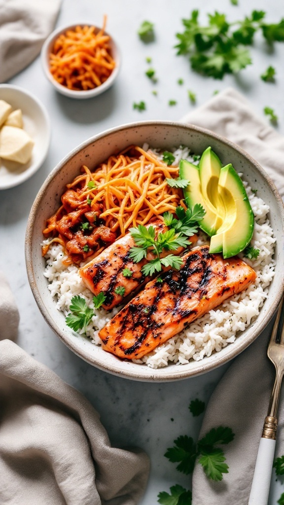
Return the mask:
<svg viewBox="0 0 284 505">
<path fill-rule="evenodd" d="M 149 146 L 144 145 L 143 148 L 147 150 Z M 188 159 L 198 164 L 198 161 L 194 161 L 190 155 L 190 150 L 187 147 L 180 146 L 174 150 L 173 154 L 175 155 L 175 165 L 178 165 L 181 159 Z M 240 175 L 242 176 L 242 174 Z M 260 250 L 257 259 L 245 258 L 245 261 L 254 268 L 257 274 L 255 283 L 194 321 L 186 330 L 170 338 L 143 359 L 133 360 L 135 363 L 146 364 L 151 368 L 160 368 L 169 363 L 186 364 L 190 360 L 202 360 L 209 357 L 212 352 L 218 352 L 227 344 L 233 343 L 238 337 L 238 332 L 244 331 L 258 316 L 274 275 L 275 263 L 272 256 L 276 239 L 273 237 L 273 231 L 267 219 L 268 205 L 256 196 L 246 181 L 244 181 L 244 185 L 255 215 L 251 245 Z M 46 242 L 44 241 L 44 243 Z M 205 243 L 209 243 L 208 237 L 201 232 L 197 245 Z M 240 254 L 240 257 L 243 255 Z M 93 295 L 86 289 L 79 276 L 78 267 L 76 265 L 65 266 L 62 262 L 63 258 L 62 246 L 56 243 L 52 244 L 45 256 L 44 276 L 49 281 L 48 288 L 56 302 L 57 309 L 62 311 L 65 316 L 69 313 L 73 296 L 80 295 L 86 300 L 87 305 L 94 311 L 94 316 L 86 328 L 86 336 L 91 338 L 94 344 L 100 345 L 99 330 L 112 319 L 121 307 L 115 308 L 111 312 L 104 309 L 94 309 Z M 84 330 L 79 330 L 79 333 L 84 334 Z"/>
</svg>

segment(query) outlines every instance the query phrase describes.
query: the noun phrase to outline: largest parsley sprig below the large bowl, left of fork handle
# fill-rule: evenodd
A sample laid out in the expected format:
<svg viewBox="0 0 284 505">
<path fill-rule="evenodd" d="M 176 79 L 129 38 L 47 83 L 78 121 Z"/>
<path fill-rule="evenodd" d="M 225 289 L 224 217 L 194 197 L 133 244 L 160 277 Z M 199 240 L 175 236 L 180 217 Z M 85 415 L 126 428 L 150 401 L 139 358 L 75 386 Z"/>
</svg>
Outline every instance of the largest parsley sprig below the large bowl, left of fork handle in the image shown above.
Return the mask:
<svg viewBox="0 0 284 505">
<path fill-rule="evenodd" d="M 223 449 L 218 446 L 228 444 L 233 438 L 231 428 L 223 426 L 212 428 L 197 444 L 192 437 L 180 436 L 174 440 L 174 447 L 167 449 L 165 457 L 178 463 L 176 469 L 185 475 L 193 472 L 197 460 L 209 479 L 220 481 L 228 473 L 228 465 Z"/>
</svg>

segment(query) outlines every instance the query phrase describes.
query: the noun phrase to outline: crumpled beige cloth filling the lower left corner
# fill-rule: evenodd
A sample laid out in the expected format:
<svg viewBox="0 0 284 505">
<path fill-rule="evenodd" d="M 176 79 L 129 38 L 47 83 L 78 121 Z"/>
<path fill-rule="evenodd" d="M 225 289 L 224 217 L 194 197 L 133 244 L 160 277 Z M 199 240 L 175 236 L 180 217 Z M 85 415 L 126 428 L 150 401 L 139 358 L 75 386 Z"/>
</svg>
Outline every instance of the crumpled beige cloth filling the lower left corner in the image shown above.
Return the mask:
<svg viewBox="0 0 284 505">
<path fill-rule="evenodd" d="M 9 304 L 10 321 L 18 321 L 0 276 L 0 335 L 15 339 L 17 325 L 6 328 Z M 144 452 L 111 447 L 84 396 L 11 340 L 0 341 L 1 505 L 135 505 L 148 474 Z"/>
</svg>

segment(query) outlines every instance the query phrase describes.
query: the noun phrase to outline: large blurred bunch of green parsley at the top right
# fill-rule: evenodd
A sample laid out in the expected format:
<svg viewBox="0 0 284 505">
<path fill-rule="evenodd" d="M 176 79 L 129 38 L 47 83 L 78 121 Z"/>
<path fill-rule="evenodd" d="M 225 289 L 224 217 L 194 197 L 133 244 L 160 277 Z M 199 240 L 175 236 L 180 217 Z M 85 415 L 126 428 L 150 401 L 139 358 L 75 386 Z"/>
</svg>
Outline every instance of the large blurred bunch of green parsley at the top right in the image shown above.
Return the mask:
<svg viewBox="0 0 284 505">
<path fill-rule="evenodd" d="M 199 11 L 183 19 L 184 30 L 176 34 L 177 55 L 188 55 L 192 69 L 208 77 L 222 79 L 225 74 L 236 74 L 252 63 L 248 45 L 255 33 L 262 32 L 270 45 L 284 41 L 284 18 L 275 24 L 264 22 L 264 11 L 252 11 L 240 21 L 230 23 L 225 14 L 208 14 L 208 23 L 201 25 Z"/>
</svg>

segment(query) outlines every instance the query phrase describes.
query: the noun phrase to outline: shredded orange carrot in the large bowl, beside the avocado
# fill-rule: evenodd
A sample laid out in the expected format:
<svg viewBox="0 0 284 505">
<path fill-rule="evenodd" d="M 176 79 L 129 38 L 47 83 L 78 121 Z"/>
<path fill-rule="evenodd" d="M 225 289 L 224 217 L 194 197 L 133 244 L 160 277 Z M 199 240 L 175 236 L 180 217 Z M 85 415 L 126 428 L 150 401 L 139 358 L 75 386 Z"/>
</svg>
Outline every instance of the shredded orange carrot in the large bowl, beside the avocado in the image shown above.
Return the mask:
<svg viewBox="0 0 284 505">
<path fill-rule="evenodd" d="M 78 209 L 87 200 L 91 210 L 100 208 L 101 222 L 119 238 L 131 226 L 146 225 L 164 212 L 174 213 L 177 206 L 184 206 L 182 190 L 167 184 L 166 178 L 171 177 L 178 177 L 178 167 L 167 166 L 155 153 L 132 145 L 94 171 L 83 165 L 81 174 L 66 187 L 76 192 Z M 66 214 L 61 206 L 48 219 L 43 234 L 54 236 L 57 223 Z M 44 254 L 46 251 L 44 246 Z"/>
</svg>

